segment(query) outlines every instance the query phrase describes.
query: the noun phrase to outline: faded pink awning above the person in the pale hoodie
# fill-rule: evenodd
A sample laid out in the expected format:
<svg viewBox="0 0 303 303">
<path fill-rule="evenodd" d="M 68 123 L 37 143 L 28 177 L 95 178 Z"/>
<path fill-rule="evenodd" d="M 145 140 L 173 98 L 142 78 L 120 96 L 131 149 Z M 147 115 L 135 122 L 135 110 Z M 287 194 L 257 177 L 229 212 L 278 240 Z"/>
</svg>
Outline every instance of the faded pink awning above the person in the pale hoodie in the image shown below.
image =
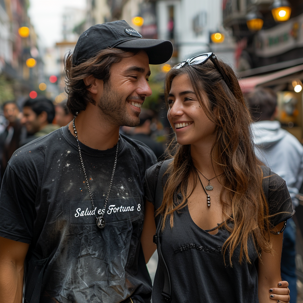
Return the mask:
<svg viewBox="0 0 303 303">
<path fill-rule="evenodd" d="M 288 82 L 291 78 L 300 79 L 303 76 L 303 74 L 298 74 L 298 73 L 302 72 L 302 71 L 303 71 L 303 64 L 293 66 L 290 68 L 285 68 L 285 69 L 282 69 L 281 71 L 274 72 L 274 73 L 267 74 L 267 75 L 242 78 L 242 79 L 239 79 L 239 84 L 242 89 L 242 92 L 248 93 L 248 92 L 252 91 L 256 86 L 259 86 L 259 85 L 264 85 L 264 84 L 267 84 L 268 86 L 275 85 L 275 82 L 276 82 L 276 84 L 281 84 L 281 81 L 275 81 L 275 80 L 278 80 L 281 78 L 283 78 L 284 82 Z M 294 74 L 296 74 L 296 75 L 294 75 Z"/>
</svg>

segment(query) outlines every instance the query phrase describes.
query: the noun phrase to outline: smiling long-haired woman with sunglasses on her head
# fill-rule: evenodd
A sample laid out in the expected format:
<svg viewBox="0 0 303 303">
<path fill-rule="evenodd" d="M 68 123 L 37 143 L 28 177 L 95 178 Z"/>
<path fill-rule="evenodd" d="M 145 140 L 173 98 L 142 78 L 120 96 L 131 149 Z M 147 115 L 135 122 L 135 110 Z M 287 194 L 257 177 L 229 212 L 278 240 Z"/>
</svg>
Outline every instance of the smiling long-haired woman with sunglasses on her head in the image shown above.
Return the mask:
<svg viewBox="0 0 303 303">
<path fill-rule="evenodd" d="M 291 198 L 274 173 L 268 201 L 264 195 L 251 118 L 234 72 L 212 53 L 187 59 L 168 72 L 165 100 L 177 144 L 169 147 L 173 160 L 155 214 L 163 218 L 161 251 L 171 301 L 288 302 L 280 258 Z M 146 172 L 146 260 L 155 250 L 152 203 L 161 164 Z M 153 302 L 166 301 L 164 271 L 158 265 Z M 278 283 L 285 288 L 271 288 Z"/>
</svg>

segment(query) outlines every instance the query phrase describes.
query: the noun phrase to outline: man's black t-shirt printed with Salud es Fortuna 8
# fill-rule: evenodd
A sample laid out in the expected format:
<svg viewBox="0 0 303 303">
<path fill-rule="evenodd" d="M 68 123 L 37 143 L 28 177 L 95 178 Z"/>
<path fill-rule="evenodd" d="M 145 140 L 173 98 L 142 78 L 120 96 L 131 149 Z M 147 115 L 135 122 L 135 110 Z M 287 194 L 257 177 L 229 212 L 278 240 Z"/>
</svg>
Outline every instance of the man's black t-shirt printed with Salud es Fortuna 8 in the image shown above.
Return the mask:
<svg viewBox="0 0 303 303">
<path fill-rule="evenodd" d="M 140 244 L 144 174 L 156 162 L 144 144 L 120 136 L 117 166 L 104 207 L 116 146 L 80 144 L 95 208 L 88 193 L 77 141 L 63 127 L 18 149 L 0 194 L 0 236 L 30 243 L 50 257 L 41 302 L 117 303 L 129 296 L 149 302 L 151 280 Z"/>
</svg>

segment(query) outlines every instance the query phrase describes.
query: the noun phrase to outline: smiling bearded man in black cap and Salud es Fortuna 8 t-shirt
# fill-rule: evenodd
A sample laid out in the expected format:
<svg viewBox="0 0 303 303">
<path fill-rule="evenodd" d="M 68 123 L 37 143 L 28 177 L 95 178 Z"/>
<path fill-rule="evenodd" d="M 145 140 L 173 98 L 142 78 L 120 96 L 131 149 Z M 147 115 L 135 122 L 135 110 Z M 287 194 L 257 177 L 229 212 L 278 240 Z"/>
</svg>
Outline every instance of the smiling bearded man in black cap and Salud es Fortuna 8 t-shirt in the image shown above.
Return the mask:
<svg viewBox="0 0 303 303">
<path fill-rule="evenodd" d="M 65 61 L 75 120 L 16 151 L 3 178 L 0 302 L 21 302 L 27 253 L 39 261 L 29 259 L 25 301 L 40 294 L 43 267 L 41 302 L 150 301 L 140 236 L 145 170 L 156 158 L 119 128 L 138 125 L 149 63 L 172 50 L 124 20 L 80 36 Z"/>
</svg>

